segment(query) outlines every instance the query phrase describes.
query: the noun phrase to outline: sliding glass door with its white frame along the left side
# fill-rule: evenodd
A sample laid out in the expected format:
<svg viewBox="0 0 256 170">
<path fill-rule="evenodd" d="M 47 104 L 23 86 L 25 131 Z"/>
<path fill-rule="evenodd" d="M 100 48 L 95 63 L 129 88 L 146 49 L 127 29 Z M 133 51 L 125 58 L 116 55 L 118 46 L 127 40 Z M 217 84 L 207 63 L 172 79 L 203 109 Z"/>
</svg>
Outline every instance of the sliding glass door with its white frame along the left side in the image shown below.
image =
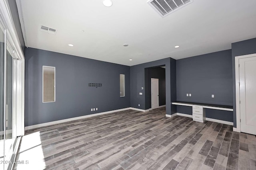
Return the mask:
<svg viewBox="0 0 256 170">
<path fill-rule="evenodd" d="M 5 1 L 0 1 L 0 170 L 12 169 L 24 135 L 24 54 Z"/>
</svg>

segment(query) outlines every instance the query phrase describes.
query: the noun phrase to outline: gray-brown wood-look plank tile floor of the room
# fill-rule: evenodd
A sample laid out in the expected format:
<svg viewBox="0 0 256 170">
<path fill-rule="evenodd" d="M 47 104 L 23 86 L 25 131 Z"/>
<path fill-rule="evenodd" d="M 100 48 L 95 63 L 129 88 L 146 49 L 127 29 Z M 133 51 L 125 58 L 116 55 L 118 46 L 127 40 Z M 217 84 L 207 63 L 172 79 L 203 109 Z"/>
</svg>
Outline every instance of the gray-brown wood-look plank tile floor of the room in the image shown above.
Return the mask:
<svg viewBox="0 0 256 170">
<path fill-rule="evenodd" d="M 20 149 L 17 159 L 40 145 L 47 170 L 256 170 L 255 135 L 232 128 L 165 117 L 165 107 L 126 110 L 26 131 L 40 143 Z"/>
</svg>

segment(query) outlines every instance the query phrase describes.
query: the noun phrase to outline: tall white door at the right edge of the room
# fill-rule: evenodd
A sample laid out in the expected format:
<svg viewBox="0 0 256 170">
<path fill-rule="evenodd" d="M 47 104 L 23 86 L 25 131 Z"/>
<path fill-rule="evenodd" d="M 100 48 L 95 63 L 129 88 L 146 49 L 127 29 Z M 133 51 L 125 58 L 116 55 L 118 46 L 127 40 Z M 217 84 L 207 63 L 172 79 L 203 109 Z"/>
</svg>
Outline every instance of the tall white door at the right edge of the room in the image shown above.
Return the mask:
<svg viewBox="0 0 256 170">
<path fill-rule="evenodd" d="M 241 132 L 256 135 L 256 57 L 239 64 Z"/>
</svg>

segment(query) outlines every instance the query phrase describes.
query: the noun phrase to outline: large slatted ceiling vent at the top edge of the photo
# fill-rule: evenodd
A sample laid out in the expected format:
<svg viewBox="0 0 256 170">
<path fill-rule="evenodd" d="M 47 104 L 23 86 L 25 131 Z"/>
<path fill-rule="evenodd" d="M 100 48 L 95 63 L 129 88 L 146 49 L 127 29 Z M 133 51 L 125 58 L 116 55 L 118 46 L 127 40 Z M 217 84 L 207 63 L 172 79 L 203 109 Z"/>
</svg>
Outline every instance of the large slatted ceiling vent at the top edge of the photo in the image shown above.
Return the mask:
<svg viewBox="0 0 256 170">
<path fill-rule="evenodd" d="M 194 0 L 149 0 L 148 4 L 164 18 L 192 2 Z"/>
</svg>

